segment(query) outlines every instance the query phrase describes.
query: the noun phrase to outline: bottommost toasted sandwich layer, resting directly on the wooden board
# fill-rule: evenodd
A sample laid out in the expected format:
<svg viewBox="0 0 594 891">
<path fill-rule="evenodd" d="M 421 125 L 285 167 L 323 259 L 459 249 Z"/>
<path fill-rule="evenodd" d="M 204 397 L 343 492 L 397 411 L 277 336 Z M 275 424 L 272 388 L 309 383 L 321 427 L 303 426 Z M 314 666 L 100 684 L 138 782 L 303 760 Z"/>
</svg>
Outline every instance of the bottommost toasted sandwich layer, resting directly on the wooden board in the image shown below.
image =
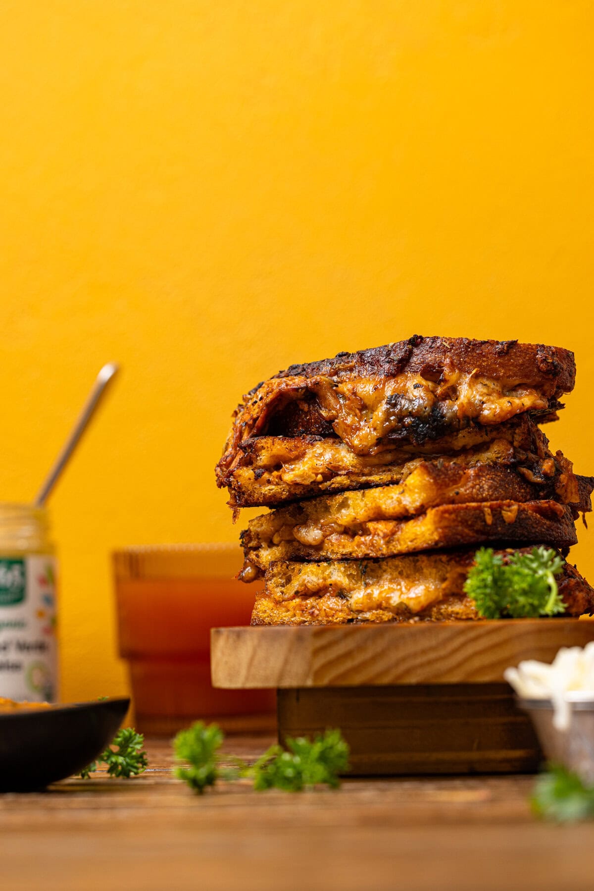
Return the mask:
<svg viewBox="0 0 594 891">
<path fill-rule="evenodd" d="M 497 553 L 505 560 L 511 551 Z M 476 619 L 475 602 L 464 594 L 474 559 L 473 548 L 387 560 L 279 561 L 256 594 L 252 625 Z M 557 584 L 566 615 L 594 612 L 594 589 L 577 569 L 566 563 Z"/>
</svg>

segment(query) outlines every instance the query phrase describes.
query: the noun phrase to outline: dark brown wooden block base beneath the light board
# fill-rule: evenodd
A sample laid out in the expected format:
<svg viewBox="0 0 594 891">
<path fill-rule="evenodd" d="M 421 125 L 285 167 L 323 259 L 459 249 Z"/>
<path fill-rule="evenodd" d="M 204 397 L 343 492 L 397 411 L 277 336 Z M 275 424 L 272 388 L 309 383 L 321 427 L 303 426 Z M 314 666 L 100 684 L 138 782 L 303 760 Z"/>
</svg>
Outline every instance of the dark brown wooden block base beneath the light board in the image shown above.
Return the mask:
<svg viewBox="0 0 594 891">
<path fill-rule="evenodd" d="M 542 753 L 507 683 L 280 690 L 279 740 L 339 727 L 354 776 L 528 773 Z"/>
</svg>

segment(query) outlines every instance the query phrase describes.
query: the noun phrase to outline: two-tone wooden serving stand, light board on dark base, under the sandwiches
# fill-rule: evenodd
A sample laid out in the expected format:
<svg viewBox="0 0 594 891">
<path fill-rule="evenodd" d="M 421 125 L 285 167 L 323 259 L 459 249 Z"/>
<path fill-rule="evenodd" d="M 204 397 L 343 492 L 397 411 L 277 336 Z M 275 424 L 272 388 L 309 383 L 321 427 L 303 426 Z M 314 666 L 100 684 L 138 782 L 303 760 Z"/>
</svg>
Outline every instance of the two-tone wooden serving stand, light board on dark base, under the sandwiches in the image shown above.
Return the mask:
<svg viewBox="0 0 594 891">
<path fill-rule="evenodd" d="M 533 772 L 508 666 L 594 640 L 594 622 L 214 628 L 215 687 L 277 688 L 279 739 L 339 727 L 354 774 Z"/>
</svg>

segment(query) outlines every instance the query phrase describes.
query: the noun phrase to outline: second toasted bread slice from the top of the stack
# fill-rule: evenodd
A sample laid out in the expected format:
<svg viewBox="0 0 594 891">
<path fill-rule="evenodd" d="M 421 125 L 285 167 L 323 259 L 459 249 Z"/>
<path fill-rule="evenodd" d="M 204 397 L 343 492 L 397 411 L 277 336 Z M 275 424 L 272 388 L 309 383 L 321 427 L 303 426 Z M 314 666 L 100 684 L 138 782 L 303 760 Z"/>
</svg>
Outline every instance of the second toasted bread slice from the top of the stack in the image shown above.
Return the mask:
<svg viewBox="0 0 594 891">
<path fill-rule="evenodd" d="M 527 417 L 494 428 L 468 428 L 424 446 L 357 455 L 337 438 L 255 437 L 241 445 L 242 458 L 226 478 L 232 507 L 296 501 L 312 495 L 363 486 L 386 486 L 406 479 L 419 460 L 499 464 L 516 468 L 536 488 L 533 498 L 576 503 L 571 462 L 549 452 L 547 437 Z M 435 456 L 435 457 L 434 457 Z M 554 485 L 551 487 L 551 482 Z"/>
</svg>

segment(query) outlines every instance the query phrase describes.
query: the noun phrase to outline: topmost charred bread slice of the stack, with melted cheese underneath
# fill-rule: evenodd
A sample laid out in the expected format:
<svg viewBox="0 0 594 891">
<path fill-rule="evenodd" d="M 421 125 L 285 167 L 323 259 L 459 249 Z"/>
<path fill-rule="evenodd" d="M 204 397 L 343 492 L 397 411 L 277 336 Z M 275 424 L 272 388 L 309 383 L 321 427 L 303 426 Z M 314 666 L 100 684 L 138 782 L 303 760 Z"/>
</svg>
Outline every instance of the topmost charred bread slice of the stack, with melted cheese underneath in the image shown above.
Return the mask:
<svg viewBox="0 0 594 891">
<path fill-rule="evenodd" d="M 574 378 L 573 353 L 514 340 L 416 336 L 291 365 L 238 406 L 218 484 L 228 485 L 240 444 L 251 437 L 339 437 L 355 454 L 378 454 L 517 414 L 554 418 Z"/>
</svg>

